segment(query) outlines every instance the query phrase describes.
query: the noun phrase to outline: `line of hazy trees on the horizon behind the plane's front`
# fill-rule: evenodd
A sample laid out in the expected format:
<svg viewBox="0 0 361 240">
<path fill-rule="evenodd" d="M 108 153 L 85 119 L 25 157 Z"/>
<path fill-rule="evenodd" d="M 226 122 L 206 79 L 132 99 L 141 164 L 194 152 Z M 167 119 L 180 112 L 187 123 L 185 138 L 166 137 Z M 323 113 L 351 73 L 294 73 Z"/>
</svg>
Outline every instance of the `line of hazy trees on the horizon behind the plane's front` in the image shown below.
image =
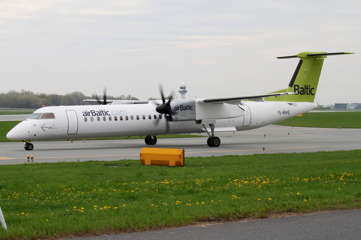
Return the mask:
<svg viewBox="0 0 361 240">
<path fill-rule="evenodd" d="M 83 102 L 84 99 L 104 99 L 104 95 L 84 95 L 82 92 L 72 92 L 64 95 L 51 93 L 34 93 L 32 91 L 10 90 L 7 93 L 0 93 L 0 107 L 9 108 L 40 108 L 45 106 L 71 106 L 71 105 L 95 105 L 98 103 Z M 106 99 L 118 100 L 139 100 L 132 95 L 120 95 L 113 97 L 106 95 Z"/>
</svg>

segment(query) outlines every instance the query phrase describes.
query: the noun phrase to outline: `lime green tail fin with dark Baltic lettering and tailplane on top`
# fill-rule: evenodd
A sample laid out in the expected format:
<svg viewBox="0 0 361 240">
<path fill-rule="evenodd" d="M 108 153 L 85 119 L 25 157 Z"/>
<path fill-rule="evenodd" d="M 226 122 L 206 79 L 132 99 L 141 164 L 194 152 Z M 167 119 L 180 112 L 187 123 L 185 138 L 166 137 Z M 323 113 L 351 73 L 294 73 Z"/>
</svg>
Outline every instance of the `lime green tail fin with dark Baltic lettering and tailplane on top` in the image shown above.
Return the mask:
<svg viewBox="0 0 361 240">
<path fill-rule="evenodd" d="M 323 59 L 328 55 L 342 55 L 352 53 L 326 53 L 326 52 L 301 52 L 294 56 L 278 57 L 284 58 L 300 58 L 290 84 L 284 92 L 294 92 L 296 94 L 284 95 L 282 99 L 265 99 L 268 101 L 288 101 L 288 102 L 313 102 L 319 76 L 323 65 Z M 277 91 L 278 92 L 278 91 Z"/>
</svg>

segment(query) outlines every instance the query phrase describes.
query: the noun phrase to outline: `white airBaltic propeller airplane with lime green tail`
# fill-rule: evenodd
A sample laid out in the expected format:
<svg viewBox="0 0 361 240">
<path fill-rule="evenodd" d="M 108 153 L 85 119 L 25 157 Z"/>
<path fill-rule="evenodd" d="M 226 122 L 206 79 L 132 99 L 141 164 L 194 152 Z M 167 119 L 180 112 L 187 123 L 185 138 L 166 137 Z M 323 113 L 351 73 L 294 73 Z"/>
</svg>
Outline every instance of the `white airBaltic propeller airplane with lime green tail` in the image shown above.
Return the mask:
<svg viewBox="0 0 361 240">
<path fill-rule="evenodd" d="M 31 141 L 145 136 L 147 145 L 159 134 L 208 134 L 207 145 L 221 144 L 215 132 L 260 128 L 308 112 L 314 103 L 323 60 L 329 55 L 352 54 L 300 52 L 279 59 L 300 58 L 286 89 L 267 94 L 235 97 L 161 100 L 86 99 L 101 105 L 52 106 L 36 110 L 16 125 L 6 138 Z"/>
</svg>

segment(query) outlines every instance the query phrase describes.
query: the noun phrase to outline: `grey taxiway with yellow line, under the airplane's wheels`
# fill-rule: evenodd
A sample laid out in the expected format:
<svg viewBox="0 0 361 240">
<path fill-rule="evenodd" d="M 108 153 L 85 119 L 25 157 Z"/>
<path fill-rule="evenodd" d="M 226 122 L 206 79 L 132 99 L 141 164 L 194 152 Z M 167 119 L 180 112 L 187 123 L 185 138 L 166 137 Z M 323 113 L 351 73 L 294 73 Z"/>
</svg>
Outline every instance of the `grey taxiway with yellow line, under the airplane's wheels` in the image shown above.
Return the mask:
<svg viewBox="0 0 361 240">
<path fill-rule="evenodd" d="M 288 133 L 290 135 L 288 136 Z M 266 134 L 266 137 L 264 137 Z M 158 147 L 183 147 L 188 156 L 220 156 L 268 153 L 317 152 L 361 149 L 361 129 L 291 128 L 270 125 L 260 129 L 217 133 L 221 146 L 208 147 L 206 137 L 158 139 Z M 0 164 L 24 163 L 26 155 L 35 161 L 81 161 L 139 159 L 140 148 L 148 146 L 143 139 L 103 141 L 32 142 L 34 150 L 26 151 L 21 142 L 0 143 Z"/>
</svg>

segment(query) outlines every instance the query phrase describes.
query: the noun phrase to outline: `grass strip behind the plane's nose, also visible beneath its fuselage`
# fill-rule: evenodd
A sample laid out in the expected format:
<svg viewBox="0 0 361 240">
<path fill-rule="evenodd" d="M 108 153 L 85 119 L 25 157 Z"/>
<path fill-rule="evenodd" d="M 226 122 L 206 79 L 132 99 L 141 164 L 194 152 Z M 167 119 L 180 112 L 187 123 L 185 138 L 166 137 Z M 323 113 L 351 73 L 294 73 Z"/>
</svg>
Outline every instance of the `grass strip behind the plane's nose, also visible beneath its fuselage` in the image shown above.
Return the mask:
<svg viewBox="0 0 361 240">
<path fill-rule="evenodd" d="M 6 134 L 20 122 L 21 121 L 0 121 L 0 142 L 20 142 L 6 138 Z M 205 137 L 205 136 L 192 135 L 192 134 L 157 135 L 157 138 L 197 138 L 197 137 Z M 134 136 L 134 137 L 115 137 L 115 138 L 86 138 L 86 140 L 116 140 L 116 139 L 144 139 L 144 137 Z M 81 140 L 81 139 L 75 139 L 75 140 Z M 59 141 L 66 141 L 66 140 L 59 140 Z"/>
</svg>

